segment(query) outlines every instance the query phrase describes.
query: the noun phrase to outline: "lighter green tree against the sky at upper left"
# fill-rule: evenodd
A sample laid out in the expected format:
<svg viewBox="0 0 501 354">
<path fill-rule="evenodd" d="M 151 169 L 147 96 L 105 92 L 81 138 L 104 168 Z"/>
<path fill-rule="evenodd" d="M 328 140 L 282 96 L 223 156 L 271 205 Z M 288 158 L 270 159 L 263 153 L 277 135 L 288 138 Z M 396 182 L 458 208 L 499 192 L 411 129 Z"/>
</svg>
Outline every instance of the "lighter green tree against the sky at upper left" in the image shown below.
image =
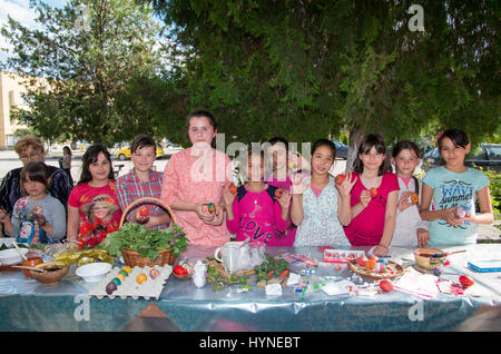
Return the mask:
<svg viewBox="0 0 501 354">
<path fill-rule="evenodd" d="M 31 0 L 30 6 L 39 29 L 11 18 L 2 28 L 14 47 L 9 67 L 28 78 L 30 109 L 13 109 L 11 117 L 50 139 L 109 145 L 138 132 L 158 136 L 150 115 L 127 91 L 164 65 L 150 6 L 127 0 L 70 0 L 62 9 Z M 45 88 L 33 86 L 39 77 L 47 79 Z"/>
</svg>

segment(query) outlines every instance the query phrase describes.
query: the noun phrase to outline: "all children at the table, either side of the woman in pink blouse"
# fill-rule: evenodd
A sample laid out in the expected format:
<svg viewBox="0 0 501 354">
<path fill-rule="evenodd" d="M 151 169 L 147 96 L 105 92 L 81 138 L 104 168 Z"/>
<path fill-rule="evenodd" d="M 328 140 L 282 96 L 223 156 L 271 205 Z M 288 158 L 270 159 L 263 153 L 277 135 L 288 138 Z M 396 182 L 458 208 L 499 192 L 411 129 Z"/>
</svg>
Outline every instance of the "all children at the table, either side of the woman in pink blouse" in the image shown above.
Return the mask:
<svg viewBox="0 0 501 354">
<path fill-rule="evenodd" d="M 330 174 L 336 157 L 331 140 L 313 144 L 310 174 L 297 166 L 292 170 L 285 139 L 274 138 L 269 146 L 267 151 L 248 151 L 243 164 L 246 181 L 236 191 L 230 184 L 223 189 L 225 223 L 236 240 L 248 237 L 267 246 L 374 246 L 375 255 L 384 255 L 390 246 L 473 244 L 478 224 L 493 220 L 489 179 L 465 167 L 471 145 L 462 130 L 449 129 L 440 136 L 445 164 L 432 168 L 422 181 L 414 177 L 420 150 L 412 141 L 397 142 L 390 160 L 383 138 L 367 135 L 353 171 L 337 177 Z M 134 170 L 116 180 L 107 148 L 90 146 L 68 199 L 67 224 L 65 207 L 48 195 L 47 166 L 29 163 L 21 171 L 24 197 L 16 203 L 11 217 L 0 213 L 0 222 L 7 234 L 21 242 L 53 243 L 66 235 L 80 246 L 96 245 L 118 229 L 130 203 L 160 198 L 163 174 L 153 169 L 155 151 L 150 137 L 138 136 L 131 147 Z M 271 173 L 265 170 L 268 158 Z M 148 213 L 136 208 L 127 220 L 150 229 L 169 225 L 166 210 L 151 204 L 147 208 Z"/>
</svg>

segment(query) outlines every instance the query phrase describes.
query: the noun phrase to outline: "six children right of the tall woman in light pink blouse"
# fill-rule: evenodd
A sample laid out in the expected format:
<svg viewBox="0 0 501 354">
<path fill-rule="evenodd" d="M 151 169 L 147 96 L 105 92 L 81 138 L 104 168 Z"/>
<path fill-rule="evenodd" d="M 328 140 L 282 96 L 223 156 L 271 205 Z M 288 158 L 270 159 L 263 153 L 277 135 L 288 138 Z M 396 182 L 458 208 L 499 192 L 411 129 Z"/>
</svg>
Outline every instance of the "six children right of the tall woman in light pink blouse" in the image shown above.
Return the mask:
<svg viewBox="0 0 501 354">
<path fill-rule="evenodd" d="M 272 175 L 264 175 L 267 156 L 249 151 L 244 164 L 248 181 L 236 195 L 225 190 L 227 225 L 236 240 L 249 237 L 267 246 L 374 246 L 375 255 L 385 255 L 391 245 L 474 244 L 478 224 L 493 220 L 489 179 L 464 165 L 471 145 L 462 130 L 449 129 L 440 136 L 445 165 L 432 168 L 422 183 L 414 176 L 420 150 L 412 141 L 399 141 L 389 159 L 383 138 L 367 135 L 354 170 L 334 178 L 330 171 L 336 148 L 320 139 L 312 148 L 311 175 L 289 171 L 279 180 L 278 171 L 288 165 L 287 141 L 269 142 Z M 275 194 L 277 187 L 284 193 Z"/>
</svg>

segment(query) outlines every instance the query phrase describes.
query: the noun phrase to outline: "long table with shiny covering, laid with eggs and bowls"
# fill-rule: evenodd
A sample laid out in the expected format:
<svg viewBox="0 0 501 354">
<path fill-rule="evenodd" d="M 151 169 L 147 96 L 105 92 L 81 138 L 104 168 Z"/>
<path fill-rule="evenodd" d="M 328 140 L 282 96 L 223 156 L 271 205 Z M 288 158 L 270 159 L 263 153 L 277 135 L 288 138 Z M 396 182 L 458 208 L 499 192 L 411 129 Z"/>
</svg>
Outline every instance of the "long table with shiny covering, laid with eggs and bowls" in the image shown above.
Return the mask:
<svg viewBox="0 0 501 354">
<path fill-rule="evenodd" d="M 466 266 L 473 257 L 501 258 L 501 245 L 439 248 L 466 249 L 449 257 L 448 273 L 470 275 L 482 295 L 440 293 L 432 299 L 422 299 L 397 291 L 374 296 L 328 296 L 318 291 L 302 298 L 294 287 L 285 287 L 282 296 L 266 296 L 255 283 L 249 283 L 254 288 L 247 293 L 237 292 L 238 286 L 215 292 L 210 284 L 197 288 L 190 281 L 170 276 L 158 299 L 98 299 L 87 296 L 96 283 L 85 283 L 76 276 L 76 265 L 72 265 L 69 274 L 52 286 L 28 279 L 21 272 L 2 272 L 0 331 L 122 331 L 151 305 L 159 314 L 156 330 L 168 331 L 451 331 L 480 306 L 501 304 L 501 273 L 477 273 Z M 317 247 L 266 252 L 307 254 L 322 262 Z M 413 262 L 405 259 L 413 259 L 412 252 L 392 247 L 390 259 L 404 259 L 403 266 L 410 266 Z M 185 254 L 188 258 L 203 258 L 213 255 L 214 248 L 188 247 Z M 301 268 L 292 265 L 293 272 Z M 321 263 L 316 275 L 348 278 L 353 274 L 347 268 L 340 272 L 335 264 Z"/>
</svg>

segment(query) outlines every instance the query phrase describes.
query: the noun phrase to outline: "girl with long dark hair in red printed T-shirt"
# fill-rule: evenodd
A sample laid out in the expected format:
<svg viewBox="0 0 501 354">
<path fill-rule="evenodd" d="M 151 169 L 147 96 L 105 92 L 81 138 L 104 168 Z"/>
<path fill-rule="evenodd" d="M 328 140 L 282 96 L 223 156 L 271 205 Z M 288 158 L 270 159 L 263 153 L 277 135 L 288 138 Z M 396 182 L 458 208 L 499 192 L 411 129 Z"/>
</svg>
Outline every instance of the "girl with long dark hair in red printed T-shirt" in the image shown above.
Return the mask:
<svg viewBox="0 0 501 354">
<path fill-rule="evenodd" d="M 89 214 L 90 209 L 99 213 Z M 118 229 L 120 218 L 111 157 L 106 146 L 91 145 L 82 157 L 80 180 L 68 198 L 68 242 L 80 236 L 80 243 L 95 246 Z M 98 229 L 99 239 L 95 233 Z"/>
</svg>

